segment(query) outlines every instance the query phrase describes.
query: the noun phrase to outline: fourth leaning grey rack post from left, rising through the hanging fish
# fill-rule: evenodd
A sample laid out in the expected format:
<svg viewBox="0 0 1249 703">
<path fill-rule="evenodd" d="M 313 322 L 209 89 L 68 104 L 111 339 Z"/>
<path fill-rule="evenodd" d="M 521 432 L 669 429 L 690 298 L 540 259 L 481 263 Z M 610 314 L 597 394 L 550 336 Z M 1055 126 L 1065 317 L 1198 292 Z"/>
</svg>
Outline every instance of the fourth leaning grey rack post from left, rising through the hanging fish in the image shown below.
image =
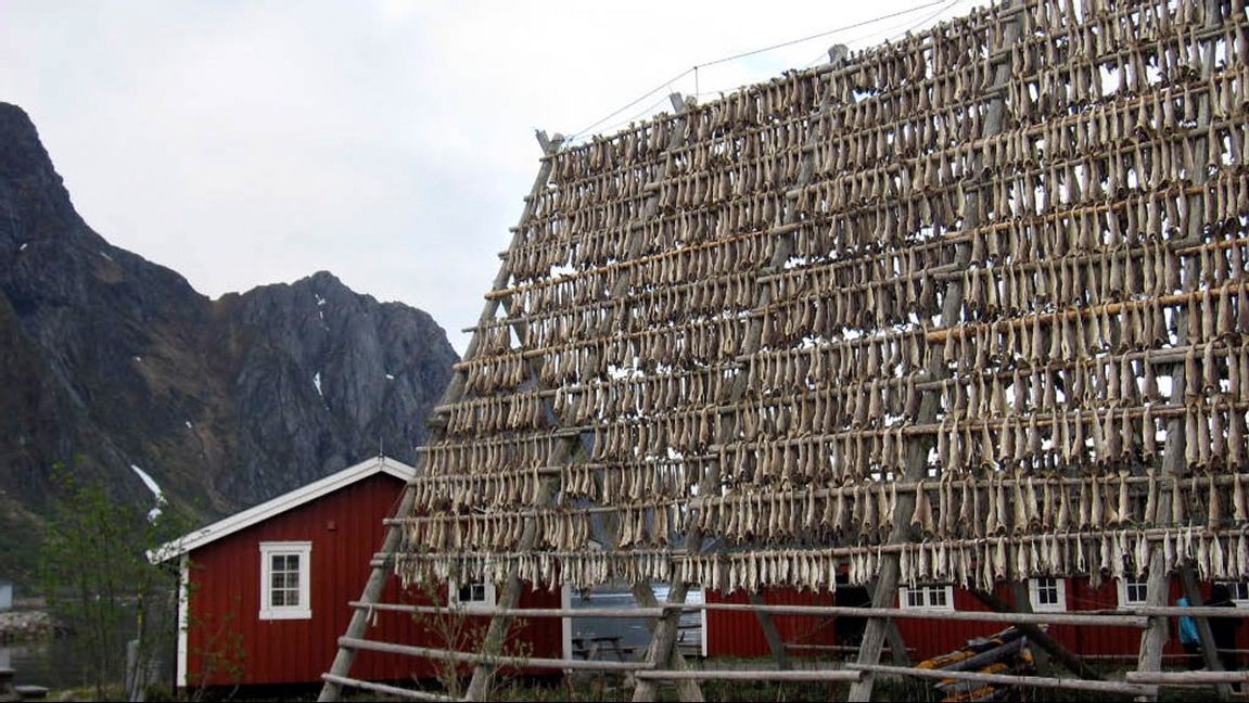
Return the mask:
<svg viewBox="0 0 1249 703">
<path fill-rule="evenodd" d="M 1009 9 L 1010 2 L 1003 4 L 1003 10 Z M 1009 47 L 1014 44 L 1015 39 L 1019 36 L 1019 19 L 1012 16 L 1008 20 L 1009 24 L 1004 27 L 1003 41 L 1004 46 Z M 1010 79 L 1010 51 L 1005 51 L 1005 59 L 997 65 L 993 74 L 993 85 L 989 87 L 990 91 L 997 91 L 998 97 L 989 105 L 989 109 L 984 117 L 984 134 L 985 136 L 997 134 L 1003 129 L 1003 112 L 1005 111 L 1005 104 L 1000 97 L 1000 89 Z M 975 229 L 982 225 L 979 222 L 979 192 L 970 191 L 967 194 L 967 207 L 965 207 L 965 222 L 968 230 Z M 970 261 L 972 250 L 968 243 L 959 243 L 955 247 L 955 265 L 958 270 L 963 270 Z M 963 307 L 963 282 L 962 278 L 953 278 L 945 285 L 945 295 L 942 301 L 942 315 L 940 325 L 942 327 L 954 327 L 962 320 L 962 307 Z M 945 363 L 940 355 L 931 355 L 931 361 L 928 363 L 928 380 L 936 381 L 943 378 L 947 373 Z M 918 423 L 934 422 L 937 420 L 937 411 L 940 408 L 940 396 L 937 392 L 926 392 L 923 400 L 919 405 L 919 416 L 916 420 Z M 909 447 L 907 447 L 907 462 L 903 469 L 903 481 L 918 482 L 923 479 L 928 471 L 928 452 L 933 443 L 932 437 L 914 437 L 911 440 Z M 889 534 L 889 543 L 899 543 L 911 539 L 909 529 L 907 528 L 907 521 L 911 518 L 911 513 L 916 508 L 916 496 L 914 493 L 903 493 L 898 496 L 898 504 L 893 513 L 893 531 Z M 898 577 L 899 577 L 899 564 L 898 556 L 894 553 L 887 554 L 881 563 L 879 572 L 876 579 L 876 592 L 872 596 L 873 608 L 887 608 L 893 604 L 894 593 L 898 589 Z M 881 651 L 884 646 L 886 628 L 891 626 L 888 618 L 869 618 L 867 621 L 867 628 L 863 632 L 863 642 L 859 644 L 859 664 L 874 666 L 881 662 Z M 876 687 L 876 674 L 871 671 L 864 671 L 863 677 L 859 681 L 851 684 L 849 701 L 871 701 L 872 689 Z"/>
</svg>

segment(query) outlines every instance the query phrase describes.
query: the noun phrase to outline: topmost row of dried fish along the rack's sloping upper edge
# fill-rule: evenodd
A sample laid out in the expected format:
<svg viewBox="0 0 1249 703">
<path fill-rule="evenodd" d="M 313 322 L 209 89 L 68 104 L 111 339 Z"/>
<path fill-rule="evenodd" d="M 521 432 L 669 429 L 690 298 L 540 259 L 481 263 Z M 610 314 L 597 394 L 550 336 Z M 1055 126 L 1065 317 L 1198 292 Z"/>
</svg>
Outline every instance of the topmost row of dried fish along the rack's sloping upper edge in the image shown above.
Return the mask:
<svg viewBox="0 0 1249 703">
<path fill-rule="evenodd" d="M 1037 6 L 1044 6 L 1038 4 Z M 1133 82 L 1127 90 L 1140 91 L 1144 85 L 1144 71 L 1140 65 L 1148 61 L 1139 56 L 1144 49 L 1152 49 L 1157 56 L 1150 56 L 1157 64 L 1167 67 L 1167 75 L 1195 72 L 1202 65 L 1200 47 L 1194 32 L 1205 21 L 1202 10 L 1189 10 L 1188 5 L 1200 5 L 1192 0 L 1179 2 L 1174 9 L 1149 4 L 1117 9 L 1113 12 L 1088 12 L 1082 7 L 1075 29 L 1068 25 L 1038 22 L 1032 12 L 1044 17 L 1045 10 L 1024 12 L 1022 39 L 1014 45 L 1012 64 L 1020 74 L 1055 64 L 1087 64 L 1098 57 L 1115 57 L 1123 47 L 1137 49 L 1135 60 L 1129 59 L 1122 74 Z M 994 10 L 995 12 L 995 10 Z M 856 55 L 851 66 L 842 70 L 819 74 L 807 72 L 773 81 L 769 85 L 753 86 L 729 95 L 708 106 L 702 106 L 684 115 L 682 120 L 673 117 L 631 126 L 613 139 L 596 139 L 585 146 L 573 147 L 568 154 L 556 159 L 556 176 L 562 181 L 586 177 L 597 170 L 627 166 L 637 160 L 652 157 L 662 150 L 671 139 L 671 131 L 683 127 L 697 140 L 709 139 L 726 129 L 743 129 L 768 120 L 784 119 L 791 114 L 803 114 L 814 106 L 817 94 L 829 94 L 848 99 L 854 92 L 888 94 L 899 85 L 921 82 L 928 75 L 943 75 L 960 66 L 979 67 L 978 80 L 964 85 L 963 91 L 939 91 L 929 105 L 943 105 L 962 100 L 963 95 L 983 90 L 990 81 L 989 62 L 980 60 L 982 54 L 995 51 L 1002 45 L 1003 20 L 993 14 L 973 12 L 953 22 L 923 32 L 898 42 L 887 42 L 881 47 Z M 1062 26 L 1063 29 L 1059 29 Z M 932 37 L 932 41 L 924 40 Z M 987 44 L 987 39 L 989 40 Z M 1175 45 L 1180 39 L 1180 45 Z M 1062 44 L 1059 45 L 1058 41 Z M 1187 41 L 1185 41 L 1187 40 Z M 1213 44 L 1213 42 L 1212 42 Z M 1230 57 L 1239 56 L 1242 44 L 1235 35 L 1225 39 L 1229 47 L 1235 49 Z M 1060 46 L 1060 47 L 1059 47 Z M 1055 47 L 1059 47 L 1055 51 Z M 1229 54 L 1232 49 L 1228 50 Z M 1225 61 L 1233 64 L 1234 61 Z M 983 66 L 983 67 L 982 67 Z M 1138 77 L 1139 76 L 1139 77 Z M 817 87 L 818 82 L 827 86 Z M 1088 99 L 1100 97 L 1103 91 L 1089 91 Z"/>
</svg>

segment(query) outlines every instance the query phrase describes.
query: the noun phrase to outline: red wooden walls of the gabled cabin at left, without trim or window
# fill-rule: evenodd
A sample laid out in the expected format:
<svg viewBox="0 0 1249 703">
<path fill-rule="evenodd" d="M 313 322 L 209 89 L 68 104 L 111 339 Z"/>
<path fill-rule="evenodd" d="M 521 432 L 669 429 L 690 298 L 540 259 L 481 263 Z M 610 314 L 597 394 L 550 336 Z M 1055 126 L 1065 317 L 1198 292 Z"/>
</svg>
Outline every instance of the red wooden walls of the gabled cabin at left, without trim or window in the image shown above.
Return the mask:
<svg viewBox="0 0 1249 703">
<path fill-rule="evenodd" d="M 347 629 L 350 601 L 360 598 L 371 571 L 370 561 L 382 543 L 382 521 L 393 513 L 402 481 L 383 473 L 361 479 L 271 519 L 195 549 L 191 554 L 191 627 L 187 633 L 187 684 L 234 686 L 316 683 L 328 671 L 337 639 Z M 312 542 L 310 602 L 312 618 L 261 621 L 260 542 Z M 400 593 L 392 578 L 382 602 L 418 602 Z M 445 601 L 443 601 L 445 602 Z M 522 607 L 558 607 L 560 594 L 527 592 Z M 438 637 L 405 613 L 376 612 L 366 637 L 393 643 L 441 647 Z M 478 621 L 478 618 L 471 618 Z M 485 618 L 480 618 L 485 623 Z M 476 623 L 473 623 L 476 624 Z M 470 626 L 471 627 L 471 626 Z M 513 628 L 532 656 L 561 656 L 558 619 L 535 619 Z M 235 644 L 244 652 L 241 679 L 211 653 Z M 353 678 L 410 681 L 435 676 L 425 659 L 360 652 Z"/>
</svg>

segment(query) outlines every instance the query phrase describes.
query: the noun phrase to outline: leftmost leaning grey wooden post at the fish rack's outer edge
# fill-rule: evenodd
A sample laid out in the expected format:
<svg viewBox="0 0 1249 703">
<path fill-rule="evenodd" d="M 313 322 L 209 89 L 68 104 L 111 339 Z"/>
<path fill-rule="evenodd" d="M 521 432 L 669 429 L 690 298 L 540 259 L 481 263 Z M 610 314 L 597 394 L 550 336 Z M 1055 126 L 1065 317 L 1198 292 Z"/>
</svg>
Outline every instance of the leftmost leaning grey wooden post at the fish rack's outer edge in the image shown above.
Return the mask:
<svg viewBox="0 0 1249 703">
<path fill-rule="evenodd" d="M 538 144 L 542 146 L 543 154 L 548 157 L 560 149 L 560 144 L 562 141 L 560 137 L 551 140 L 547 137 L 546 132 L 541 131 L 537 134 L 537 139 Z M 532 212 L 533 202 L 536 201 L 538 192 L 541 192 L 541 189 L 546 187 L 547 180 L 550 180 L 551 177 L 551 167 L 552 167 L 551 160 L 546 159 L 542 162 L 542 166 L 538 169 L 538 175 L 537 177 L 533 179 L 533 187 L 530 190 L 530 197 L 527 199 L 523 214 L 521 215 L 522 222 L 526 219 L 528 219 L 530 214 Z M 516 245 L 518 236 L 520 235 L 512 236 L 512 246 Z M 511 270 L 507 262 L 505 261 L 500 266 L 498 273 L 495 276 L 493 290 L 500 290 L 506 287 L 507 280 L 510 277 L 511 277 Z M 465 350 L 465 360 L 473 358 L 477 355 L 477 347 L 481 345 L 481 328 L 485 327 L 485 325 L 495 317 L 495 313 L 498 311 L 498 305 L 500 305 L 498 298 L 490 298 L 486 301 L 486 305 L 482 308 L 482 313 L 478 320 L 477 331 L 473 332 L 472 338 L 468 341 L 468 347 Z M 438 405 L 453 403 L 463 396 L 466 375 L 467 372 L 461 370 L 452 376 L 451 382 L 447 385 L 446 391 L 443 391 L 442 400 L 438 402 Z M 437 436 L 441 436 L 442 431 L 440 426 L 433 423 L 432 430 L 433 430 L 432 435 L 435 437 L 431 437 L 431 440 L 436 438 Z M 423 466 L 425 466 L 425 457 L 422 455 L 417 462 L 418 474 Z M 416 493 L 412 489 L 412 486 L 408 484 L 403 489 L 403 496 L 400 498 L 400 503 L 395 511 L 393 517 L 398 518 L 407 517 L 412 512 L 412 504 L 415 502 L 415 497 Z M 386 537 L 382 539 L 381 549 L 378 549 L 378 553 L 382 554 L 383 559 L 381 563 L 377 563 L 373 567 L 373 569 L 368 573 L 368 581 L 365 582 L 363 593 L 361 593 L 360 596 L 360 601 L 362 603 L 376 603 L 381 598 L 382 591 L 386 587 L 386 582 L 392 576 L 391 569 L 393 568 L 393 556 L 395 552 L 398 549 L 401 537 L 402 537 L 402 531 L 397 524 L 391 524 L 386 528 Z M 351 639 L 361 639 L 363 638 L 365 631 L 367 628 L 368 628 L 368 612 L 362 608 L 356 608 L 351 614 L 351 621 L 347 623 L 347 632 L 343 634 L 343 637 Z M 330 664 L 328 673 L 335 677 L 346 677 L 347 674 L 351 673 L 351 666 L 355 663 L 355 661 L 356 661 L 355 648 L 343 647 L 342 644 L 340 644 L 338 652 L 333 657 L 333 663 Z M 325 684 L 321 687 L 321 693 L 317 696 L 317 701 L 338 701 L 341 696 L 342 696 L 342 684 L 326 681 Z"/>
</svg>

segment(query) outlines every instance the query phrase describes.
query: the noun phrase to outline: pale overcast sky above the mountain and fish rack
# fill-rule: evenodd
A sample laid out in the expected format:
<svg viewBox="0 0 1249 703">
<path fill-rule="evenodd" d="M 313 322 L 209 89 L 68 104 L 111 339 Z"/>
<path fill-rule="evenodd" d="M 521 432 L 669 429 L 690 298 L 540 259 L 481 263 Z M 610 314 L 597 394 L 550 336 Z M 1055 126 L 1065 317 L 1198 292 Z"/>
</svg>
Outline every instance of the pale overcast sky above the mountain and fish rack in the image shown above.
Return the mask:
<svg viewBox="0 0 1249 703">
<path fill-rule="evenodd" d="M 964 14 L 949 0 L 698 70 L 766 81 Z M 458 351 L 537 174 L 535 129 L 696 92 L 687 69 L 919 2 L 0 0 L 0 100 L 79 212 L 211 297 L 318 270 L 433 315 Z M 657 105 L 659 104 L 659 105 Z M 646 110 L 649 109 L 649 112 Z"/>
</svg>

